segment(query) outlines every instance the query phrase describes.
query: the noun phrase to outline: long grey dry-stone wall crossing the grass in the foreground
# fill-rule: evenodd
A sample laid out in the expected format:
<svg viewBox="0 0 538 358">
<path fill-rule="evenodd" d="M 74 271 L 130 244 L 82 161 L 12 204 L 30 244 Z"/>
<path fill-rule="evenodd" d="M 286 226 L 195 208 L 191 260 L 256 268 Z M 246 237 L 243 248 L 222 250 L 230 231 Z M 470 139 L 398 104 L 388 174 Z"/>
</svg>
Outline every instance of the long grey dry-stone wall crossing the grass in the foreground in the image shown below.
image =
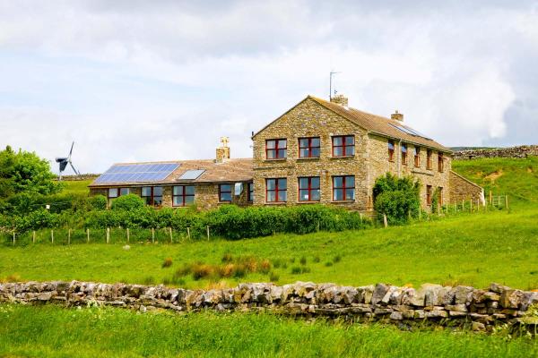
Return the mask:
<svg viewBox="0 0 538 358">
<path fill-rule="evenodd" d="M 535 326 L 525 315 L 538 304 L 538 292 L 491 284 L 470 286 L 425 284 L 415 290 L 385 284 L 376 286 L 240 284 L 234 288 L 186 290 L 165 286 L 97 284 L 91 282 L 27 282 L 0 284 L 0 303 L 88 303 L 138 311 L 259 311 L 306 317 L 340 317 L 354 321 L 381 321 L 409 325 L 431 323 L 490 331 L 497 323 Z"/>
</svg>

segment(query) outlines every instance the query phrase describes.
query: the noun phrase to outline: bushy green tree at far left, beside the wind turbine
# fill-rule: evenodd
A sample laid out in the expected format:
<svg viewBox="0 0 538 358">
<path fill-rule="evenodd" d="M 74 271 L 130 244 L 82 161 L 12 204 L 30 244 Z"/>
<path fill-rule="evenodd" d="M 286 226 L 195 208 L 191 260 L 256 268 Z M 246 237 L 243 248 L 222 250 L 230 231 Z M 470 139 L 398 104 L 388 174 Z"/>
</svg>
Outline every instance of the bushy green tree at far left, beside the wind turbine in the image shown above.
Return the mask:
<svg viewBox="0 0 538 358">
<path fill-rule="evenodd" d="M 10 146 L 0 151 L 0 199 L 21 192 L 41 195 L 59 192 L 62 186 L 54 182 L 55 177 L 48 161 L 35 152 L 22 149 L 15 152 Z"/>
</svg>

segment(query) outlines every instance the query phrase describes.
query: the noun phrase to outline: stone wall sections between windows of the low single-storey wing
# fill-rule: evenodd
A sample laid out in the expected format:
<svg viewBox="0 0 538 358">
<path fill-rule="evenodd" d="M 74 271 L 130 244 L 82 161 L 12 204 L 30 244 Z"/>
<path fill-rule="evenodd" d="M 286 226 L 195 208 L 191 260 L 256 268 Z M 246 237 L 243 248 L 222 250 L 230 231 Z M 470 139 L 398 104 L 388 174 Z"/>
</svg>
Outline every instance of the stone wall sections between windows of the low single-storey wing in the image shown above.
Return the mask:
<svg viewBox="0 0 538 358">
<path fill-rule="evenodd" d="M 235 183 L 235 182 L 234 182 Z M 232 191 L 233 191 L 233 184 Z M 195 186 L 195 205 L 199 209 L 214 209 L 222 204 L 230 204 L 230 202 L 219 201 L 219 184 L 216 183 L 193 183 Z M 155 185 L 154 185 L 155 186 Z M 172 208 L 172 185 L 162 186 L 162 207 Z M 121 185 L 117 186 L 121 188 L 129 188 L 131 193 L 138 196 L 142 193 L 142 186 L 130 186 Z M 239 196 L 231 196 L 231 204 L 238 205 L 240 207 L 247 206 L 250 203 L 247 200 L 247 183 L 243 183 L 243 192 Z M 90 188 L 90 195 L 104 195 L 108 196 L 108 188 Z"/>
</svg>

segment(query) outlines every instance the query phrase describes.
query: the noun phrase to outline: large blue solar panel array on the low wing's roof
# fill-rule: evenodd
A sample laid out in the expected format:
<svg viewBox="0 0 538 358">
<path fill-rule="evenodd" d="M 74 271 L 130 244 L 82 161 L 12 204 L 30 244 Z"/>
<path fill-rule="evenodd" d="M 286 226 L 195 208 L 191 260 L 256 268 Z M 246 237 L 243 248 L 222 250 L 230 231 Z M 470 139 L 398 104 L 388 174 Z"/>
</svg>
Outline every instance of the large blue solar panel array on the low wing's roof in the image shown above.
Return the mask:
<svg viewBox="0 0 538 358">
<path fill-rule="evenodd" d="M 178 168 L 178 163 L 117 164 L 110 166 L 95 183 L 138 183 L 165 179 Z"/>
</svg>

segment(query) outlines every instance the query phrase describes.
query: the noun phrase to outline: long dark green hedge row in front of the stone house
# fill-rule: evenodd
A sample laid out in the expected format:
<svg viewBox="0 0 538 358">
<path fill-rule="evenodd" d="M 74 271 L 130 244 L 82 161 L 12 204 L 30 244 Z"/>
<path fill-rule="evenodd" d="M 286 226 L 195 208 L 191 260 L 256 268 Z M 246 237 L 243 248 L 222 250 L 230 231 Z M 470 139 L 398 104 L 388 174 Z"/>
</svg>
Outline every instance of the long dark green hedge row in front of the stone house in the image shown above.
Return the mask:
<svg viewBox="0 0 538 358">
<path fill-rule="evenodd" d="M 24 217 L 0 218 L 0 227 L 14 228 L 20 233 L 56 227 L 172 227 L 176 231 L 187 232 L 188 227 L 191 238 L 196 239 L 204 237 L 206 227 L 210 226 L 212 235 L 230 240 L 275 233 L 343 231 L 369 225 L 369 220 L 363 219 L 357 212 L 323 205 L 248 208 L 223 205 L 208 211 L 198 211 L 195 208 L 156 210 L 143 207 L 129 210 L 91 210 L 84 213 L 64 211 L 59 214 L 39 209 Z"/>
</svg>

